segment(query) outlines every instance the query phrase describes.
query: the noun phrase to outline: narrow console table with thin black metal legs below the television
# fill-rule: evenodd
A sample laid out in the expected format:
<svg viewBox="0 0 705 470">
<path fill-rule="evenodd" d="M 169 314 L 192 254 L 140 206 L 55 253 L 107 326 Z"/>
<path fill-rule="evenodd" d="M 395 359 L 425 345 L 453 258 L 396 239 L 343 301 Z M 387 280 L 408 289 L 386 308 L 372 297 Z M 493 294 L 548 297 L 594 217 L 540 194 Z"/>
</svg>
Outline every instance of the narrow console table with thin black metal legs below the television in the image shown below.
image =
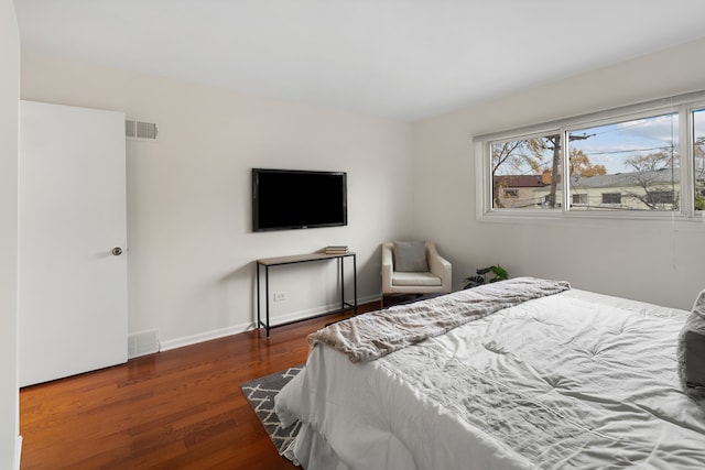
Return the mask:
<svg viewBox="0 0 705 470">
<path fill-rule="evenodd" d="M 352 293 L 354 300 L 352 304 L 345 300 L 345 260 L 352 259 Z M 283 266 L 285 264 L 297 264 L 297 263 L 310 263 L 314 261 L 325 261 L 325 260 L 338 260 L 338 271 L 340 273 L 340 309 L 334 311 L 326 311 L 325 314 L 313 315 L 311 317 L 301 318 L 297 320 L 286 321 L 278 325 L 270 325 L 269 321 L 269 270 L 274 266 Z M 260 315 L 260 269 L 264 267 L 264 296 L 265 300 L 265 319 L 262 321 Z M 357 259 L 355 253 L 341 253 L 341 254 L 327 254 L 327 253 L 308 253 L 308 254 L 295 254 L 291 256 L 280 256 L 280 258 L 265 258 L 262 260 L 257 260 L 257 327 L 263 327 L 267 329 L 267 336 L 269 337 L 269 331 L 272 328 L 282 327 L 284 325 L 291 325 L 296 321 L 303 321 L 311 318 L 323 317 L 324 315 L 333 315 L 340 311 L 344 311 L 346 307 L 355 308 L 355 314 L 357 314 Z"/>
</svg>

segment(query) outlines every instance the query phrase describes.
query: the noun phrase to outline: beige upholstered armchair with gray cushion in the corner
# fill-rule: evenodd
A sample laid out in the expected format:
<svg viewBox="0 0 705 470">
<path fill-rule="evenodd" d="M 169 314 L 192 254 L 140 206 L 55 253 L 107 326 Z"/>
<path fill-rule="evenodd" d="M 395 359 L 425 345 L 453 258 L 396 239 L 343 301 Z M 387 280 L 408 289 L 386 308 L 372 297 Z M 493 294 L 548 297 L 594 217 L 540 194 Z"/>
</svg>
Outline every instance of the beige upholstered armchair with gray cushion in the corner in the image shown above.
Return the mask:
<svg viewBox="0 0 705 470">
<path fill-rule="evenodd" d="M 382 243 L 382 305 L 395 294 L 447 294 L 452 289 L 452 266 L 433 242 Z"/>
</svg>

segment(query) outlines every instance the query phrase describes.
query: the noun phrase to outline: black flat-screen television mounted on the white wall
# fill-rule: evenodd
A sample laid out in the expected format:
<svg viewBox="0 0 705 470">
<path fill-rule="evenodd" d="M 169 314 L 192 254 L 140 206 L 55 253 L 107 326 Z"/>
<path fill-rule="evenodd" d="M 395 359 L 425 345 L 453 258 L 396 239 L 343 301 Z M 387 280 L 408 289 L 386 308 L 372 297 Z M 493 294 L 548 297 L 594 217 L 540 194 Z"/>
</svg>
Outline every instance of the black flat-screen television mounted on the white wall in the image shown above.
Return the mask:
<svg viewBox="0 0 705 470">
<path fill-rule="evenodd" d="M 347 173 L 252 168 L 253 231 L 347 223 Z"/>
</svg>

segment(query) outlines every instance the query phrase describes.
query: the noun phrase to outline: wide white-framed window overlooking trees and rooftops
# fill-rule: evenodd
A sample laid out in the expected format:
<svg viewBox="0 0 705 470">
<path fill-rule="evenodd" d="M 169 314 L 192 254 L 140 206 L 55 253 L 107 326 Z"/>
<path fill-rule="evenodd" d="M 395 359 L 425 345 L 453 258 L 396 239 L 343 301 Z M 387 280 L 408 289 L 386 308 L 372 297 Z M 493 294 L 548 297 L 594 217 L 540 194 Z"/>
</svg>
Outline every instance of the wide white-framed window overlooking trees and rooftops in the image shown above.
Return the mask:
<svg viewBox="0 0 705 470">
<path fill-rule="evenodd" d="M 705 91 L 479 136 L 476 150 L 480 217 L 705 210 Z"/>
</svg>

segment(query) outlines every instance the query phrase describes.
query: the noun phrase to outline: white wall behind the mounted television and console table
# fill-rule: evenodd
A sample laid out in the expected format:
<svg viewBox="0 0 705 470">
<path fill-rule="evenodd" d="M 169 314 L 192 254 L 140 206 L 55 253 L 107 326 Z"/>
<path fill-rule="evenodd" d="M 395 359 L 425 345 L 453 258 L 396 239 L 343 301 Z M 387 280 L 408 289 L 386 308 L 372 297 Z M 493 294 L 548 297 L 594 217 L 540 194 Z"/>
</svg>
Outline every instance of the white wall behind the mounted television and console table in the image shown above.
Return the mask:
<svg viewBox="0 0 705 470">
<path fill-rule="evenodd" d="M 158 123 L 158 141 L 127 146 L 129 329 L 156 328 L 167 348 L 250 325 L 259 258 L 348 244 L 360 299 L 378 298 L 380 243 L 411 233 L 410 124 L 34 54 L 22 99 Z M 256 166 L 347 172 L 348 226 L 253 233 Z M 288 299 L 272 315 L 334 304 L 329 264 L 273 272 Z"/>
</svg>

